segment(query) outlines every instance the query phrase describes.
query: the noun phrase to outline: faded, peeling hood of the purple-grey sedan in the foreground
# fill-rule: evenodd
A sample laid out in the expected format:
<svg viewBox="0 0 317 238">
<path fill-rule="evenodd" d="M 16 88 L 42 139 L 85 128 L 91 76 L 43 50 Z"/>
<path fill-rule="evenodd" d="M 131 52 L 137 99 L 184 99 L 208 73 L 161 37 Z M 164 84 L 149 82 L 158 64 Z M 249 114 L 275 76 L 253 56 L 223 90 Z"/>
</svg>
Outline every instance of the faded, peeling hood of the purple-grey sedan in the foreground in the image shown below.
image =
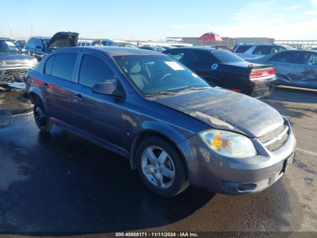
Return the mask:
<svg viewBox="0 0 317 238">
<path fill-rule="evenodd" d="M 276 129 L 284 119 L 258 99 L 214 87 L 188 93 L 149 98 L 187 114 L 213 128 L 259 137 Z"/>
</svg>

